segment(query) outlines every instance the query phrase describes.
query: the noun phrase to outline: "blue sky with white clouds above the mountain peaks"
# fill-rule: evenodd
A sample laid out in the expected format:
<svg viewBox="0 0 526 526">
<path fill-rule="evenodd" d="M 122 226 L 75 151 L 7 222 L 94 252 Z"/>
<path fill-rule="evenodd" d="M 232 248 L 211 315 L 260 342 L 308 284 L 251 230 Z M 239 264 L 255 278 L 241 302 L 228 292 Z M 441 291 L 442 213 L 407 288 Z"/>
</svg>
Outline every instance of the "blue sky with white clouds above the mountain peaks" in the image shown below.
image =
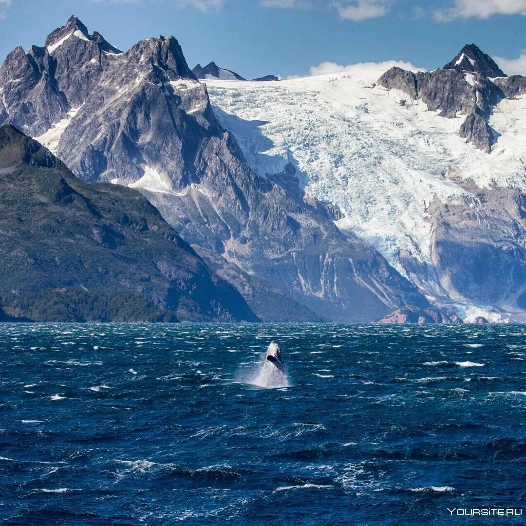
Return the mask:
<svg viewBox="0 0 526 526">
<path fill-rule="evenodd" d="M 246 77 L 308 74 L 322 62 L 405 60 L 433 69 L 467 43 L 526 75 L 526 0 L 0 0 L 0 55 L 43 45 L 77 15 L 127 49 L 174 35 L 190 67 Z"/>
</svg>

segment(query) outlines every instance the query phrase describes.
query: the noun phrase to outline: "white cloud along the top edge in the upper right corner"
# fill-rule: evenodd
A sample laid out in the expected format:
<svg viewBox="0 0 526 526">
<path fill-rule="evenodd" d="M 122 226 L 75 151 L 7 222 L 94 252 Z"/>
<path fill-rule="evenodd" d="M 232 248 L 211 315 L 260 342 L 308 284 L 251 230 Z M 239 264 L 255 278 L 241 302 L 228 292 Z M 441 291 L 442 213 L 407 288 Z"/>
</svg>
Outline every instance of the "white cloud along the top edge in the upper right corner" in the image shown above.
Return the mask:
<svg viewBox="0 0 526 526">
<path fill-rule="evenodd" d="M 526 0 L 452 0 L 449 7 L 434 13 L 439 22 L 493 15 L 526 15 Z"/>
</svg>

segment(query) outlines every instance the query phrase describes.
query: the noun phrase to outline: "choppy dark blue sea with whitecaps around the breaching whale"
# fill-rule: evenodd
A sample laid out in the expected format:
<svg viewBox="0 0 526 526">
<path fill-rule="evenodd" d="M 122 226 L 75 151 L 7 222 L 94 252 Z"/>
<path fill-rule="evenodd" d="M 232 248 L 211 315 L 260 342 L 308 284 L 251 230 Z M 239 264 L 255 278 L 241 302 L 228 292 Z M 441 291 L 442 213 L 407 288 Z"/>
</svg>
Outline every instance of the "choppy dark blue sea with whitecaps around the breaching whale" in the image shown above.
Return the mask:
<svg viewBox="0 0 526 526">
<path fill-rule="evenodd" d="M 524 503 L 525 358 L 524 326 L 0 325 L 0 521 L 478 524 L 447 508 Z"/>
</svg>

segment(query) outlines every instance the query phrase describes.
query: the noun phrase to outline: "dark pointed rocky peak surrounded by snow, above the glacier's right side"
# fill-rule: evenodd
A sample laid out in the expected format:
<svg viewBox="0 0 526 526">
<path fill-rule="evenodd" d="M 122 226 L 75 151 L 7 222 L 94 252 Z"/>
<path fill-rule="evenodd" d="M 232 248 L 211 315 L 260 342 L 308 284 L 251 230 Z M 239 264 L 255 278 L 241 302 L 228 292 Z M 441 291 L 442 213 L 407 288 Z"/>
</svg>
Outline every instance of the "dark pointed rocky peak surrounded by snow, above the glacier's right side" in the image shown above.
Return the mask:
<svg viewBox="0 0 526 526">
<path fill-rule="evenodd" d="M 378 84 L 422 100 L 430 111 L 439 110 L 442 117 L 467 115 L 460 136 L 489 153 L 497 135 L 488 124 L 494 105 L 504 97 L 526 92 L 525 77 L 494 77 L 505 75 L 491 57 L 470 44 L 443 69 L 412 73 L 393 67 L 379 78 Z"/>
</svg>

